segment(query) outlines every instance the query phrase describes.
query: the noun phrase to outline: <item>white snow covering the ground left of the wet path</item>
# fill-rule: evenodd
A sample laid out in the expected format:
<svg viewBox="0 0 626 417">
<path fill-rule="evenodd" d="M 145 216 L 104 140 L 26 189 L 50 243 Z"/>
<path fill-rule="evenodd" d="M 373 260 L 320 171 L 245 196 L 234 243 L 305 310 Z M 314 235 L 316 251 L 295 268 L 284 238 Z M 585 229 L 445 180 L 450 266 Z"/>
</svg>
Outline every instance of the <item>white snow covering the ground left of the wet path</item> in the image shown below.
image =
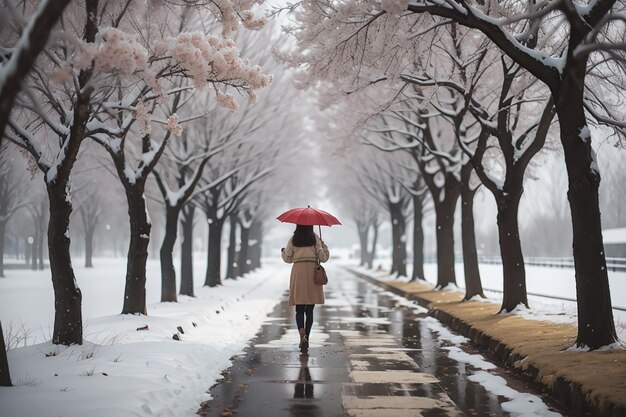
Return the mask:
<svg viewBox="0 0 626 417">
<path fill-rule="evenodd" d="M 155 273 L 158 264 L 151 263 L 149 315 L 133 316 L 117 314 L 124 260 L 98 264 L 89 274 L 77 270 L 85 343 L 45 342 L 10 350 L 15 386 L 0 388 L 1 417 L 193 416 L 230 358 L 281 300 L 289 277 L 288 265 L 272 263 L 217 288 L 198 287 L 196 298 L 155 303 L 160 274 Z M 199 272 L 196 277 L 203 276 Z M 41 340 L 51 332 L 49 271 L 9 271 L 9 276 L 0 281 L 0 318 L 3 324 L 21 319 L 29 328 L 38 327 Z M 148 329 L 138 330 L 144 326 Z M 176 333 L 180 341 L 172 338 Z"/>
</svg>

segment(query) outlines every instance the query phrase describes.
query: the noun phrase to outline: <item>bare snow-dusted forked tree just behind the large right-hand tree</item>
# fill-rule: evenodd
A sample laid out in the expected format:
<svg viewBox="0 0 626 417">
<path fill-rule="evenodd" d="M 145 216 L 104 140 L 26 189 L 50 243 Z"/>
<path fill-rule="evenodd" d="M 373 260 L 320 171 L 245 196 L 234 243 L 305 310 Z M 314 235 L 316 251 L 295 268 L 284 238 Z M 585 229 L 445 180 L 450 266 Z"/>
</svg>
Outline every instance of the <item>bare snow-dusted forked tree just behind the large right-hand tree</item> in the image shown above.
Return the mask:
<svg viewBox="0 0 626 417">
<path fill-rule="evenodd" d="M 514 82 L 520 76 L 521 68 L 515 64 L 507 64 L 502 60 L 503 81 L 497 107 L 492 113 L 475 98 L 475 87 L 464 88 L 454 81 L 444 82 L 456 93 L 463 96 L 462 106 L 471 111 L 481 124 L 477 137 L 459 137 L 459 144 L 470 158 L 470 161 L 485 187 L 496 198 L 498 207 L 498 230 L 500 237 L 500 253 L 504 272 L 503 311 L 512 311 L 518 304 L 528 306 L 526 295 L 526 278 L 524 257 L 519 237 L 518 210 L 523 192 L 524 174 L 531 159 L 539 152 L 546 141 L 551 121 L 555 115 L 552 101 L 548 100 L 543 111 L 530 123 L 524 123 L 523 117 L 531 113 L 536 98 L 525 97 L 528 89 L 514 93 Z M 408 77 L 407 77 L 408 78 Z M 478 78 L 475 78 L 478 80 Z M 427 83 L 417 81 L 420 85 Z M 432 84 L 438 81 L 430 80 Z M 432 85 L 431 84 L 431 85 Z M 525 102 L 530 101 L 530 105 Z M 504 179 L 489 172 L 488 164 L 483 159 L 490 137 L 497 140 L 497 148 L 504 164 Z M 468 141 L 476 142 L 475 150 L 471 150 Z"/>
</svg>

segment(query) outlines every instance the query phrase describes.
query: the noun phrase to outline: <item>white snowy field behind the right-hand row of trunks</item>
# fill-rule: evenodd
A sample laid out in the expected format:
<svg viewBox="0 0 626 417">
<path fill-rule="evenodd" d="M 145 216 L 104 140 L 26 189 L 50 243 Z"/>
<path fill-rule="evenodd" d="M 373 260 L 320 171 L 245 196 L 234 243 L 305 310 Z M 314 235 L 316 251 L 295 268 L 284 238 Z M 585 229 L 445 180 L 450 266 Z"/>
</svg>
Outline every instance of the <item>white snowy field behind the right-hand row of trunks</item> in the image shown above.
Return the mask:
<svg viewBox="0 0 626 417">
<path fill-rule="evenodd" d="M 390 261 L 377 260 L 376 265 L 390 265 Z M 410 271 L 412 265 L 408 265 Z M 381 280 L 397 279 L 383 270 L 372 271 L 360 269 L 374 278 Z M 437 265 L 424 264 L 426 282 L 434 285 L 437 282 Z M 477 301 L 502 303 L 502 265 L 480 264 L 480 274 L 487 300 L 475 298 Z M 456 264 L 456 278 L 459 291 L 465 288 L 463 264 Z M 609 271 L 609 285 L 613 307 L 626 308 L 626 272 Z M 529 293 L 545 294 L 554 297 L 576 299 L 576 281 L 572 268 L 548 268 L 540 266 L 526 266 L 526 287 Z M 489 291 L 496 290 L 496 291 Z M 516 314 L 529 320 L 546 320 L 555 323 L 577 323 L 576 303 L 545 297 L 528 296 L 530 309 L 518 308 L 509 314 Z M 613 318 L 617 335 L 626 342 L 626 311 L 613 310 Z"/>
</svg>

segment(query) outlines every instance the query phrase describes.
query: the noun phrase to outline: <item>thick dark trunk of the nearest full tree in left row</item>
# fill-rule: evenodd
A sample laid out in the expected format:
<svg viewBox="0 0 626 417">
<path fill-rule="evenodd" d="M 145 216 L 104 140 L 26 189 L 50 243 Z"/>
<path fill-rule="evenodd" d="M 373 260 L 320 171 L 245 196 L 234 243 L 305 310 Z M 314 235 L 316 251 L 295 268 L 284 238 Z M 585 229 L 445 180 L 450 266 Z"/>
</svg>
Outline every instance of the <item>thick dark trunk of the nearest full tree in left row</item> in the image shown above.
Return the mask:
<svg viewBox="0 0 626 417">
<path fill-rule="evenodd" d="M 67 234 L 72 213 L 68 188 L 67 183 L 60 179 L 47 184 L 50 201 L 48 250 L 54 288 L 52 343 L 66 346 L 83 343 L 82 294 L 74 277 Z"/>
</svg>

